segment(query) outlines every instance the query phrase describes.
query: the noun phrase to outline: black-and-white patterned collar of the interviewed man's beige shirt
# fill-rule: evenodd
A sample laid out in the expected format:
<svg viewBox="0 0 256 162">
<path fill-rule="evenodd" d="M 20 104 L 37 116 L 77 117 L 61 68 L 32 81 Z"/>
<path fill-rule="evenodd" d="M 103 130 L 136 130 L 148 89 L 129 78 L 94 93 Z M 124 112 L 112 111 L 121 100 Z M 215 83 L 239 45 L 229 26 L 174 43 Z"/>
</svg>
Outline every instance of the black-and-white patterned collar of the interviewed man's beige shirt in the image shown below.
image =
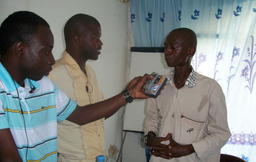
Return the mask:
<svg viewBox="0 0 256 162">
<path fill-rule="evenodd" d="M 184 85 L 184 87 L 187 87 L 187 88 L 192 88 L 196 85 L 196 80 L 197 80 L 196 72 L 194 71 L 192 66 L 191 66 L 191 68 L 192 68 L 192 71 L 190 72 L 189 77 L 187 78 L 187 81 Z M 170 75 L 169 79 L 167 80 L 166 84 L 171 84 L 173 77 L 174 77 L 174 72 L 175 72 L 175 69 L 173 69 L 171 71 L 171 75 Z"/>
</svg>

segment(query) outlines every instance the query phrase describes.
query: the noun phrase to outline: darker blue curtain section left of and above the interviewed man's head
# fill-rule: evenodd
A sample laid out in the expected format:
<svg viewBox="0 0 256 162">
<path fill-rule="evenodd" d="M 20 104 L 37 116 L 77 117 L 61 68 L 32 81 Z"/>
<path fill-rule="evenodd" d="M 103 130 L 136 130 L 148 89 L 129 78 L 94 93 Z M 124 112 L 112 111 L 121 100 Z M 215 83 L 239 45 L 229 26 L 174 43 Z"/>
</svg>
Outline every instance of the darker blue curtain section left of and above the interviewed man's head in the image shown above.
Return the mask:
<svg viewBox="0 0 256 162">
<path fill-rule="evenodd" d="M 162 47 L 170 29 L 180 27 L 178 0 L 132 0 L 130 4 L 135 47 Z"/>
</svg>

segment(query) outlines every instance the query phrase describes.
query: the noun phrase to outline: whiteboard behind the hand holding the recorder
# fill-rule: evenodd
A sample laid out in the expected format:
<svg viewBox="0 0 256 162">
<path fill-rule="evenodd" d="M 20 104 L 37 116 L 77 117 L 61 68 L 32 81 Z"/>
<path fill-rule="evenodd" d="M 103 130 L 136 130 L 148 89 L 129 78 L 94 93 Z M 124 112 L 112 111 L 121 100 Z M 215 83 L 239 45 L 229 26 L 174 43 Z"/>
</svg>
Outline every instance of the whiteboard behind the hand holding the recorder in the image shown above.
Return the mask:
<svg viewBox="0 0 256 162">
<path fill-rule="evenodd" d="M 157 72 L 161 75 L 169 73 L 172 68 L 165 62 L 163 53 L 132 52 L 130 63 L 130 77 L 143 76 L 145 73 Z M 144 100 L 134 100 L 126 104 L 124 113 L 123 130 L 144 132 L 146 117 L 146 102 Z"/>
</svg>

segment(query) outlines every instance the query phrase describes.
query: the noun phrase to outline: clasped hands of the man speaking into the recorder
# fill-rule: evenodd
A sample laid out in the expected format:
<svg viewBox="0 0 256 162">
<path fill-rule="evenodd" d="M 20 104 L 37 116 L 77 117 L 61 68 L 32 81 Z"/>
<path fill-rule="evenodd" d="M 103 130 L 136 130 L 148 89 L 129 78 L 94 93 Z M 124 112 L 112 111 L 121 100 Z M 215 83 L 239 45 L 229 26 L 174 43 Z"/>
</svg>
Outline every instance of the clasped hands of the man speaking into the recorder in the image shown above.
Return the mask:
<svg viewBox="0 0 256 162">
<path fill-rule="evenodd" d="M 168 145 L 162 144 L 163 141 L 169 141 Z M 172 133 L 168 133 L 166 137 L 149 137 L 148 145 L 153 156 L 165 159 L 180 158 L 195 152 L 193 145 L 180 145 L 172 138 Z"/>
</svg>

